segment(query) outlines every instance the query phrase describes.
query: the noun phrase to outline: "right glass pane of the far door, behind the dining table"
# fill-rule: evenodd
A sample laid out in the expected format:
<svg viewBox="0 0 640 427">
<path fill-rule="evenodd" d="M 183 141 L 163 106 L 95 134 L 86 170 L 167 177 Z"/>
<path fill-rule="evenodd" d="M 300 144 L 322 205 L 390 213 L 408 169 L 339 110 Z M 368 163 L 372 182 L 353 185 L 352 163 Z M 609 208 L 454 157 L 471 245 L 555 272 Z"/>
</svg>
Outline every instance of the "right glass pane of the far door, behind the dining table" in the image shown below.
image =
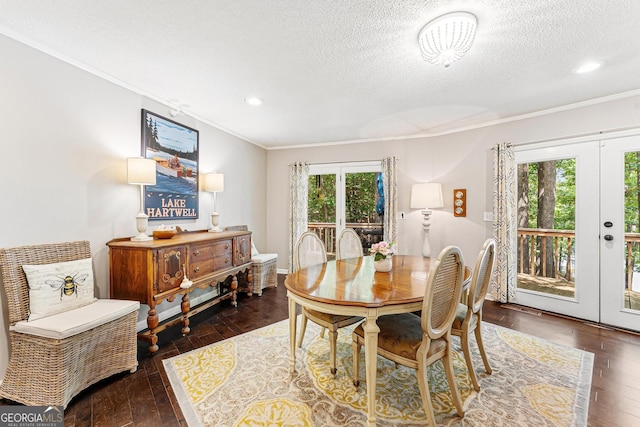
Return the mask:
<svg viewBox="0 0 640 427">
<path fill-rule="evenodd" d="M 372 244 L 382 241 L 383 215 L 382 174 L 345 174 L 345 227 L 358 233 L 365 255 Z"/>
</svg>

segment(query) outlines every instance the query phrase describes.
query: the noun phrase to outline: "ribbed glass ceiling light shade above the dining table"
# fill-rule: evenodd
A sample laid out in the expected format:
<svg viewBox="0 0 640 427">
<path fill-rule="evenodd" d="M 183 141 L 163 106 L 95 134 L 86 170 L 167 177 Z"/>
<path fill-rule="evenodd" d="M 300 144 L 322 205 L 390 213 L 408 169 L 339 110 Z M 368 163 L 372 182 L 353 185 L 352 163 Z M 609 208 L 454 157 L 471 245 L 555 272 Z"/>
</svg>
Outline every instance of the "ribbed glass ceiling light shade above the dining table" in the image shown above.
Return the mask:
<svg viewBox="0 0 640 427">
<path fill-rule="evenodd" d="M 418 34 L 422 58 L 448 67 L 471 49 L 477 26 L 478 20 L 469 12 L 453 12 L 434 19 Z"/>
</svg>

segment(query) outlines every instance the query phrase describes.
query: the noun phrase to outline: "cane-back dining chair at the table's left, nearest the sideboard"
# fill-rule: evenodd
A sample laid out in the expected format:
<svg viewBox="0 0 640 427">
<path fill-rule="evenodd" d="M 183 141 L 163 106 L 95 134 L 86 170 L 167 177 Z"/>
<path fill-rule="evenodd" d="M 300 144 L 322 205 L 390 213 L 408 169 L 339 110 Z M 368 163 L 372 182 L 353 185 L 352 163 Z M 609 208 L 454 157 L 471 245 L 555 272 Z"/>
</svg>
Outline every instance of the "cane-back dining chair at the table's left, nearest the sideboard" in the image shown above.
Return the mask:
<svg viewBox="0 0 640 427">
<path fill-rule="evenodd" d="M 316 264 L 327 262 L 327 252 L 320 238 L 313 232 L 302 233 L 296 244 L 296 270 L 306 268 Z M 338 340 L 338 329 L 353 325 L 362 320 L 361 317 L 341 316 L 337 314 L 323 313 L 321 311 L 302 308 L 302 321 L 300 324 L 300 336 L 298 337 L 298 347 L 302 347 L 302 340 L 307 329 L 307 320 L 322 326 L 320 336 L 324 336 L 324 328 L 329 331 L 330 367 L 331 373 L 335 375 L 336 369 L 336 342 Z"/>
</svg>

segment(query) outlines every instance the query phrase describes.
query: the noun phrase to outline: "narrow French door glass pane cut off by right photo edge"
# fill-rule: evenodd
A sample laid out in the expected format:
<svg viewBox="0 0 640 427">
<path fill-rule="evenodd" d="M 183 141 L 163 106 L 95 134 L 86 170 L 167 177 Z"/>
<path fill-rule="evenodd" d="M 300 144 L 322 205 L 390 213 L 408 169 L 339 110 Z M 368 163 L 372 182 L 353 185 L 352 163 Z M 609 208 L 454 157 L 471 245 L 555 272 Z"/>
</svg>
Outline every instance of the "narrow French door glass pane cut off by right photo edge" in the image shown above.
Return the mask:
<svg viewBox="0 0 640 427">
<path fill-rule="evenodd" d="M 640 152 L 624 157 L 625 286 L 624 305 L 640 310 Z"/>
</svg>

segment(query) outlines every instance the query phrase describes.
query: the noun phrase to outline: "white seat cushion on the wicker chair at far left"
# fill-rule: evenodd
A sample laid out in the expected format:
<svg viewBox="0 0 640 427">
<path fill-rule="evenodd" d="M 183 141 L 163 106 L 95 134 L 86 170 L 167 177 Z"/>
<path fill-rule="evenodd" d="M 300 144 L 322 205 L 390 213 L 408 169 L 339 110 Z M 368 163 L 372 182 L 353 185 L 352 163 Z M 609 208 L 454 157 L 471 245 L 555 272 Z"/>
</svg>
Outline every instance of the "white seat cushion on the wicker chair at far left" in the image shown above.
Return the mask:
<svg viewBox="0 0 640 427">
<path fill-rule="evenodd" d="M 137 301 L 99 299 L 63 313 L 20 321 L 11 330 L 40 337 L 63 339 L 103 325 L 140 308 Z"/>
</svg>

